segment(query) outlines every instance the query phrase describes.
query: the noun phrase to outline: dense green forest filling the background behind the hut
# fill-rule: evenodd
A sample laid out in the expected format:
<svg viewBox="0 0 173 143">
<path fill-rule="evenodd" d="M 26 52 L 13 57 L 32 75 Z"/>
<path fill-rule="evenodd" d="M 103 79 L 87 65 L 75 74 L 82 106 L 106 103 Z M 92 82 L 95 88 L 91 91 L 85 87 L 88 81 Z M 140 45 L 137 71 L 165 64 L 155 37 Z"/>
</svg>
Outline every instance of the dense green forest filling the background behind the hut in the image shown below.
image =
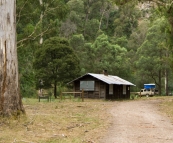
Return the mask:
<svg viewBox="0 0 173 143">
<path fill-rule="evenodd" d="M 155 83 L 167 95 L 173 91 L 172 7 L 171 0 L 17 0 L 22 95 L 34 95 L 39 78 L 51 85 L 54 66 L 62 68 L 57 84 L 107 69 L 137 85 L 134 91 Z M 48 59 L 54 50 L 58 60 Z"/>
</svg>

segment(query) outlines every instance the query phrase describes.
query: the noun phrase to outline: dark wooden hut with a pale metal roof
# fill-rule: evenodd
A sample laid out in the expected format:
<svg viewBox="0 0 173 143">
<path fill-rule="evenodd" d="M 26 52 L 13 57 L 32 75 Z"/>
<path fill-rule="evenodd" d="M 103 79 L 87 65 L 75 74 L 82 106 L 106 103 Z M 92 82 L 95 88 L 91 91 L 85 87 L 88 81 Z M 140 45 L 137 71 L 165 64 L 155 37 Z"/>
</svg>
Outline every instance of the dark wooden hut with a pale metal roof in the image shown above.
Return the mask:
<svg viewBox="0 0 173 143">
<path fill-rule="evenodd" d="M 84 90 L 85 98 L 104 98 L 104 99 L 129 99 L 130 86 L 133 83 L 118 76 L 87 73 L 73 81 L 74 92 Z M 76 95 L 77 96 L 77 95 Z"/>
</svg>

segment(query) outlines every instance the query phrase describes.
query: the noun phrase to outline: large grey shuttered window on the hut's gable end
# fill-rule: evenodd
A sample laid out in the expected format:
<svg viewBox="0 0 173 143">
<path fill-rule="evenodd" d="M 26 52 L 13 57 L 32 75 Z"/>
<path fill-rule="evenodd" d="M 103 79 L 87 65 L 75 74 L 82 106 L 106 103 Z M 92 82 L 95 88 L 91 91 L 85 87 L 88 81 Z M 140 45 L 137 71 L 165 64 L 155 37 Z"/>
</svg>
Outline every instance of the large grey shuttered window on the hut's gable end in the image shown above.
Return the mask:
<svg viewBox="0 0 173 143">
<path fill-rule="evenodd" d="M 94 91 L 95 82 L 94 81 L 80 81 L 80 90 L 84 91 Z"/>
</svg>

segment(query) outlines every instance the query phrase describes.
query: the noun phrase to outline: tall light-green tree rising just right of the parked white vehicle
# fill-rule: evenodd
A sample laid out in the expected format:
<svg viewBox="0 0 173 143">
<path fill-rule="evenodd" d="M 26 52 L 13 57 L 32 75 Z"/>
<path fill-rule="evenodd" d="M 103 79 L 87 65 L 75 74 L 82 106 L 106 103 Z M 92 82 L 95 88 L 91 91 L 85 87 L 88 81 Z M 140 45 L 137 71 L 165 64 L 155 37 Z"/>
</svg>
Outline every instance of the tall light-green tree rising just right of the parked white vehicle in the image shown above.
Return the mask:
<svg viewBox="0 0 173 143">
<path fill-rule="evenodd" d="M 139 60 L 137 67 L 141 76 L 146 76 L 154 81 L 162 89 L 162 77 L 165 77 L 165 93 L 168 95 L 168 71 L 170 70 L 169 54 L 170 49 L 167 43 L 168 23 L 165 18 L 157 19 L 151 28 L 148 29 L 146 39 L 138 49 Z"/>
</svg>

